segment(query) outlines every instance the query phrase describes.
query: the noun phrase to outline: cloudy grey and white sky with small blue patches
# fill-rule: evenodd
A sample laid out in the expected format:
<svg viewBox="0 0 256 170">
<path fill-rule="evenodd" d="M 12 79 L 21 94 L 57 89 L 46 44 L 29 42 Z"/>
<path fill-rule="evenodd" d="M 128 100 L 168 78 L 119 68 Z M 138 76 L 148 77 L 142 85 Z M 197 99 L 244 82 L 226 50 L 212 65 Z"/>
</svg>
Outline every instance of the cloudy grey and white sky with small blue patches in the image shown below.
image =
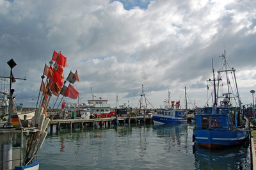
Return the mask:
<svg viewBox="0 0 256 170">
<path fill-rule="evenodd" d="M 16 102 L 35 107 L 44 65 L 56 50 L 67 57 L 65 77 L 77 70 L 80 79 L 73 84 L 79 99 L 64 97 L 68 103 L 87 103 L 92 88 L 111 107 L 140 107 L 143 85 L 150 108 L 163 107 L 168 91 L 184 108 L 185 87 L 188 107 L 204 107 L 212 60 L 216 71 L 225 51 L 241 102 L 251 104 L 255 6 L 250 0 L 0 0 L 0 76 L 10 76 L 6 62 L 13 59 L 14 77 L 26 79 L 12 84 Z M 8 84 L 2 80 L 0 90 Z"/>
</svg>

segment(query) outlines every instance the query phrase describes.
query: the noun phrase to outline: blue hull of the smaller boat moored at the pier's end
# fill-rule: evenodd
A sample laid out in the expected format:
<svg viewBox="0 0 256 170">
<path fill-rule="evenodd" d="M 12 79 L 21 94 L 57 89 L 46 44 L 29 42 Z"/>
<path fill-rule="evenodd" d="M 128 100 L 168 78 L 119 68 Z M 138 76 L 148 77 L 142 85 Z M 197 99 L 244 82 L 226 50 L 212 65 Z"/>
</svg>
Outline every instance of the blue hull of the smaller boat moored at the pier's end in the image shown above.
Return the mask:
<svg viewBox="0 0 256 170">
<path fill-rule="evenodd" d="M 152 116 L 152 119 L 155 123 L 166 123 L 166 124 L 172 124 L 172 123 L 186 123 L 187 120 L 184 118 L 175 118 L 168 115 L 157 115 L 154 114 Z"/>
</svg>

